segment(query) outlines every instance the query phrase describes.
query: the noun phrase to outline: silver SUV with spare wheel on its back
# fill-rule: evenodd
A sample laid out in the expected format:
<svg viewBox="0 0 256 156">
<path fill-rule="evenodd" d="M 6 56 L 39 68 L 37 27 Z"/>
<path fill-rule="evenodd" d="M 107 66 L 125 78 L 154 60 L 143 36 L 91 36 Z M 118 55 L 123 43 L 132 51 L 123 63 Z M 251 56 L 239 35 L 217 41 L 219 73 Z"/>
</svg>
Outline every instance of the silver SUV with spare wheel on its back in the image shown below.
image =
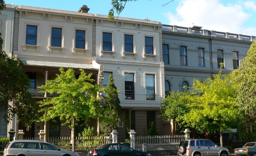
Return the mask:
<svg viewBox="0 0 256 156">
<path fill-rule="evenodd" d="M 228 156 L 225 147 L 218 147 L 207 139 L 186 139 L 180 142 L 177 156 Z"/>
</svg>

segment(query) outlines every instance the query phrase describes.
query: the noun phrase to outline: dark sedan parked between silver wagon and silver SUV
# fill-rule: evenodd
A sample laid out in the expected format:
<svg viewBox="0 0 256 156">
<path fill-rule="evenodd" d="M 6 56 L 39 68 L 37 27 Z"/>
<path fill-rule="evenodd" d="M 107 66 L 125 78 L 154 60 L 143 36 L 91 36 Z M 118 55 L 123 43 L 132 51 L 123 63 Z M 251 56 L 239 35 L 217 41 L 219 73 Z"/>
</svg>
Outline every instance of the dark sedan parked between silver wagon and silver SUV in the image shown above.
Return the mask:
<svg viewBox="0 0 256 156">
<path fill-rule="evenodd" d="M 150 156 L 148 152 L 138 151 L 128 144 L 111 143 L 103 144 L 95 149 L 90 149 L 88 155 L 97 156 Z"/>
</svg>

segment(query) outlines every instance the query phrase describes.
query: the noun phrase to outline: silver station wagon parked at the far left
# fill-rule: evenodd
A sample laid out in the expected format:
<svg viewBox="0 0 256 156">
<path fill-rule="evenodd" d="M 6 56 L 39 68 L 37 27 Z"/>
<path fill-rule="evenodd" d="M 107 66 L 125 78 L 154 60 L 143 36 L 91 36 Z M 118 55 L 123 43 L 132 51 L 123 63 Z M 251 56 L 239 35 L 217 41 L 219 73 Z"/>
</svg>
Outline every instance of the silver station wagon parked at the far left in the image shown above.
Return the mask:
<svg viewBox="0 0 256 156">
<path fill-rule="evenodd" d="M 14 140 L 4 149 L 4 156 L 79 156 L 40 140 Z"/>
</svg>

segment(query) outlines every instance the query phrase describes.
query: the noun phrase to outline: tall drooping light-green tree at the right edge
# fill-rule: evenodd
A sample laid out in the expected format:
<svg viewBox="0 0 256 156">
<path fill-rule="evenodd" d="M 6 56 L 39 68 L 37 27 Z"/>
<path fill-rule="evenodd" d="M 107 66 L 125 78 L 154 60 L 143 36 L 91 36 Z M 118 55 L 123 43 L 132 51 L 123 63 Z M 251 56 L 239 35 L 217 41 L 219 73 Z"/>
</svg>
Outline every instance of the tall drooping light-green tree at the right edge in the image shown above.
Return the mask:
<svg viewBox="0 0 256 156">
<path fill-rule="evenodd" d="M 235 84 L 236 102 L 241 114 L 240 137 L 251 140 L 256 136 L 256 41 L 251 44 L 245 59 L 230 75 Z"/>
</svg>

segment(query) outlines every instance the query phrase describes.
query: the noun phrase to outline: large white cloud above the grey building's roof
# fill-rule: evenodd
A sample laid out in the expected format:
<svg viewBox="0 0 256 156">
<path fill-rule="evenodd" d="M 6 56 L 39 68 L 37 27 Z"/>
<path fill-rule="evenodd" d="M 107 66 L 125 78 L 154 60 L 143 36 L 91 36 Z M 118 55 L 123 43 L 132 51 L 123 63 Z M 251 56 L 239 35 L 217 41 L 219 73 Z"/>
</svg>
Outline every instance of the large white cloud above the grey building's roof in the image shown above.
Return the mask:
<svg viewBox="0 0 256 156">
<path fill-rule="evenodd" d="M 243 26 L 250 16 L 241 5 L 225 6 L 219 0 L 182 0 L 176 14 L 165 14 L 170 25 L 192 27 L 194 23 L 203 26 L 203 29 L 255 36 L 256 27 Z"/>
</svg>

